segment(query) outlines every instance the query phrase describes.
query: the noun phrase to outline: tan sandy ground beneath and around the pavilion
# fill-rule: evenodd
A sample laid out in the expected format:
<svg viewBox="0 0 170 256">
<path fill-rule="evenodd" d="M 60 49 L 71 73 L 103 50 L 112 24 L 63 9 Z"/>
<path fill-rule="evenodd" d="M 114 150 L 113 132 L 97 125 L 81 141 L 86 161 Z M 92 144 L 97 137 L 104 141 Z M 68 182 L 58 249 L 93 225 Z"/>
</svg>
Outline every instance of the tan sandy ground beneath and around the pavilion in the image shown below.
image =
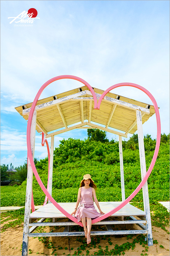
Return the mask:
<svg viewBox="0 0 170 256">
<path fill-rule="evenodd" d="M 3 224 L 2 224 L 3 225 Z M 136 229 L 140 229 L 137 225 L 134 226 Z M 54 229 L 54 227 L 45 227 L 45 232 L 50 232 Z M 61 227 L 58 229 L 59 232 L 62 232 L 64 227 Z M 169 230 L 169 227 L 167 227 Z M 37 232 L 37 231 L 36 231 Z M 40 232 L 40 231 L 39 231 Z M 158 244 L 154 244 L 153 246 L 149 246 L 147 255 L 155 255 L 155 256 L 166 256 L 169 254 L 169 235 L 158 227 L 152 227 L 153 232 L 153 239 L 158 241 Z M 82 236 L 83 237 L 83 236 Z M 96 236 L 91 236 L 96 237 Z M 110 236 L 110 241 L 113 243 L 112 245 L 109 245 L 108 238 L 106 240 L 101 240 L 100 243 L 97 245 L 97 247 L 100 245 L 101 249 L 105 249 L 106 245 L 108 245 L 108 249 L 114 249 L 115 245 L 122 245 L 126 242 L 132 242 L 133 239 L 136 236 L 133 236 L 132 239 L 126 239 L 126 237 L 116 238 L 115 236 Z M 56 255 L 73 255 L 75 251 L 77 251 L 77 248 L 82 244 L 82 242 L 79 242 L 76 240 L 76 236 L 71 236 L 70 240 L 69 237 L 48 237 L 47 241 L 51 241 L 54 246 L 56 246 L 57 251 L 55 251 Z M 22 255 L 21 248 L 22 248 L 22 239 L 23 239 L 23 227 L 16 227 L 14 228 L 8 228 L 6 231 L 1 233 L 1 252 L 0 255 Z M 84 237 L 85 239 L 85 237 Z M 49 243 L 48 243 L 49 244 Z M 87 245 L 87 244 L 86 244 Z M 138 256 L 141 255 L 142 250 L 144 248 L 139 243 L 135 244 L 135 248 L 132 250 L 125 250 L 125 256 L 132 255 L 132 256 Z M 163 245 L 164 248 L 160 248 L 159 245 Z M 62 246 L 63 249 L 58 250 L 58 246 Z M 147 246 L 147 245 L 146 245 Z M 64 249 L 64 248 L 68 249 Z M 97 252 L 99 248 L 94 248 L 88 245 L 86 247 L 86 250 L 89 250 L 89 255 L 94 254 L 94 252 Z M 74 248 L 71 250 L 71 248 Z M 38 237 L 36 238 L 29 238 L 29 253 L 28 255 L 51 255 L 54 249 L 47 248 L 47 245 L 45 246 L 44 243 L 38 240 Z M 86 251 L 82 250 L 81 255 L 86 255 Z M 54 255 L 54 253 L 53 253 Z M 74 254 L 75 255 L 75 254 Z M 122 255 L 122 254 L 121 254 Z"/>
</svg>

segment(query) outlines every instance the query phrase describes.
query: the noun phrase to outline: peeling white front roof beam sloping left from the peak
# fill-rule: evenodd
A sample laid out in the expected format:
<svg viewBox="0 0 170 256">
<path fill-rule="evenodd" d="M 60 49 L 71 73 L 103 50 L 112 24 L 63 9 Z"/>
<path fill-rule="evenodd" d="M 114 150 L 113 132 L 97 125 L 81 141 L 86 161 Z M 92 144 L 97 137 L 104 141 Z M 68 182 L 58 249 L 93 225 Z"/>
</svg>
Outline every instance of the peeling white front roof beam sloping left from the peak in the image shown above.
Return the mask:
<svg viewBox="0 0 170 256">
<path fill-rule="evenodd" d="M 53 105 L 61 104 L 63 101 L 68 101 L 68 100 L 70 100 L 72 98 L 83 96 L 83 95 L 86 95 L 86 94 L 87 94 L 86 91 L 82 91 L 82 92 L 77 92 L 77 93 L 74 93 L 74 94 L 66 96 L 66 97 L 62 97 L 60 99 L 56 99 L 56 100 L 53 100 L 53 101 L 45 102 L 43 104 L 37 105 L 35 107 L 35 110 L 40 110 L 42 108 L 48 108 L 48 107 L 51 107 Z M 30 112 L 30 110 L 31 110 L 31 108 L 24 109 L 23 110 L 23 115 L 27 115 Z"/>
</svg>

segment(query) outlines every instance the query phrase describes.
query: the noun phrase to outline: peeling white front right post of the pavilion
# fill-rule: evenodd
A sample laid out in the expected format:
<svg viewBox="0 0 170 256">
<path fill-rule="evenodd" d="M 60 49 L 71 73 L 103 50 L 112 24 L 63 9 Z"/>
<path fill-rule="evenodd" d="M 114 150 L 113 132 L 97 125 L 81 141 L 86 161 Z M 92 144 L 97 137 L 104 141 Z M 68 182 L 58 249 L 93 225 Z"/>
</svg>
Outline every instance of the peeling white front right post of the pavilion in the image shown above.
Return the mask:
<svg viewBox="0 0 170 256">
<path fill-rule="evenodd" d="M 136 119 L 137 119 L 137 127 L 138 127 L 138 144 L 139 144 L 141 177 L 143 179 L 143 177 L 147 173 L 147 169 L 146 169 L 145 148 L 144 148 L 144 140 L 143 140 L 142 115 L 140 110 L 136 110 Z M 142 191 L 143 191 L 144 211 L 146 213 L 146 220 L 147 220 L 147 224 L 146 224 L 147 242 L 148 242 L 148 246 L 150 246 L 150 245 L 153 245 L 153 238 L 152 238 L 151 213 L 150 213 L 147 182 L 145 182 L 145 184 L 143 185 Z"/>
</svg>

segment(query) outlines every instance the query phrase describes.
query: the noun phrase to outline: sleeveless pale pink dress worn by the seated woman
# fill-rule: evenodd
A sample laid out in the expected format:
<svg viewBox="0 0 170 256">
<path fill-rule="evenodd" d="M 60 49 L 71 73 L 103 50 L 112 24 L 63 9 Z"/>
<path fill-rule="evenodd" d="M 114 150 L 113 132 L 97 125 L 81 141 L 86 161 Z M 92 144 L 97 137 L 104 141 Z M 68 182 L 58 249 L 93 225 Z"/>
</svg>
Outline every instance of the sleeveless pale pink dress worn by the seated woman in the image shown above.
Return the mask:
<svg viewBox="0 0 170 256">
<path fill-rule="evenodd" d="M 84 207 L 79 207 L 75 213 L 75 217 L 78 219 L 78 222 L 81 221 L 81 218 L 97 218 L 101 216 L 101 213 L 98 213 L 94 207 L 93 202 L 93 191 L 92 188 L 84 188 L 81 189 L 81 198 L 80 204 L 84 204 Z"/>
</svg>

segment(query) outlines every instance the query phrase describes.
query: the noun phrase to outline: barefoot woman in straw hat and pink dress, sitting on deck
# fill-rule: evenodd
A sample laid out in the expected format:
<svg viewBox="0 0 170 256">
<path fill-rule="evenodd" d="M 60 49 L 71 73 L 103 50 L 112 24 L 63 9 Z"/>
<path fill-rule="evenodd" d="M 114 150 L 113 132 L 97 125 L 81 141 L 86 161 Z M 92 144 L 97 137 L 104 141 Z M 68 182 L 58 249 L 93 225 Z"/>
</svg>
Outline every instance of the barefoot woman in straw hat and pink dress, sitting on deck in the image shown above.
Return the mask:
<svg viewBox="0 0 170 256">
<path fill-rule="evenodd" d="M 80 188 L 78 192 L 77 197 L 77 203 L 74 209 L 74 212 L 71 213 L 71 215 L 75 215 L 75 217 L 78 219 L 78 222 L 81 221 L 84 227 L 84 233 L 85 237 L 87 238 L 87 244 L 90 244 L 91 238 L 90 238 L 90 231 L 91 231 L 91 218 L 97 218 L 100 215 L 104 214 L 99 206 L 99 202 L 96 198 L 96 185 L 94 184 L 94 181 L 92 180 L 90 174 L 86 174 L 83 176 L 83 180 L 80 183 Z M 100 211 L 98 213 L 94 207 L 94 201 Z M 80 202 L 80 206 L 79 205 Z M 86 227 L 87 222 L 87 227 Z"/>
</svg>

